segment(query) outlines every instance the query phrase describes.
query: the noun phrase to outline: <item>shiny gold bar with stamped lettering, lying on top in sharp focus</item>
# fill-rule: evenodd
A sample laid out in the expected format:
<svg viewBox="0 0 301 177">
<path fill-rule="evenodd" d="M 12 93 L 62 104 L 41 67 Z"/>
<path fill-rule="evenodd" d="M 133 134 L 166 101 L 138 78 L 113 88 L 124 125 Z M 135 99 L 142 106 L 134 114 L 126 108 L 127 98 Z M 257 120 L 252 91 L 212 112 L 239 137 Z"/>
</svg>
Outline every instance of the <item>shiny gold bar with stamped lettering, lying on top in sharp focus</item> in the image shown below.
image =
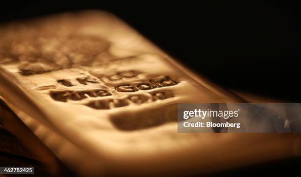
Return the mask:
<svg viewBox="0 0 301 177">
<path fill-rule="evenodd" d="M 178 133 L 178 103 L 245 100 L 112 14 L 14 22 L 0 38 L 1 97 L 79 175 L 206 174 L 300 148 L 297 134 Z"/>
</svg>

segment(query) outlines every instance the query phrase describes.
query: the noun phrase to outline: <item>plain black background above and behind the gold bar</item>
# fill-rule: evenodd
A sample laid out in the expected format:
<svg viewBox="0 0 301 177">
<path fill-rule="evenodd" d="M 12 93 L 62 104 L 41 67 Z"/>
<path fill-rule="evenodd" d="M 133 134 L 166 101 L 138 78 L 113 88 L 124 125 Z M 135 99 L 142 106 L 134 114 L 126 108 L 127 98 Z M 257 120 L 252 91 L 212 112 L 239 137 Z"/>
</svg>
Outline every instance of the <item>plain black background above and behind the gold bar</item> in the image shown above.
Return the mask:
<svg viewBox="0 0 301 177">
<path fill-rule="evenodd" d="M 104 9 L 220 86 L 301 102 L 298 3 L 5 1 L 0 22 Z"/>
</svg>

